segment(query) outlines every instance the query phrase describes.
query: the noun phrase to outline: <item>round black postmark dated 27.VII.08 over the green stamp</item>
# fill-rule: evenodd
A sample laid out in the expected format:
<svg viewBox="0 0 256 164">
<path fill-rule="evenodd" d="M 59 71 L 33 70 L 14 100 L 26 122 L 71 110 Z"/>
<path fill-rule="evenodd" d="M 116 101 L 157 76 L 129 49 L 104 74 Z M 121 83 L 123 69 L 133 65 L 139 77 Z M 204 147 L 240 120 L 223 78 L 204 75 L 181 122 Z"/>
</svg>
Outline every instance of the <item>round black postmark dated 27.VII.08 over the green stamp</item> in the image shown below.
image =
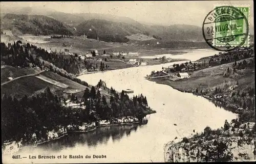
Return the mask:
<svg viewBox="0 0 256 164">
<path fill-rule="evenodd" d="M 205 17 L 202 30 L 206 43 L 219 51 L 234 50 L 248 42 L 248 20 L 240 8 L 216 7 Z"/>
</svg>

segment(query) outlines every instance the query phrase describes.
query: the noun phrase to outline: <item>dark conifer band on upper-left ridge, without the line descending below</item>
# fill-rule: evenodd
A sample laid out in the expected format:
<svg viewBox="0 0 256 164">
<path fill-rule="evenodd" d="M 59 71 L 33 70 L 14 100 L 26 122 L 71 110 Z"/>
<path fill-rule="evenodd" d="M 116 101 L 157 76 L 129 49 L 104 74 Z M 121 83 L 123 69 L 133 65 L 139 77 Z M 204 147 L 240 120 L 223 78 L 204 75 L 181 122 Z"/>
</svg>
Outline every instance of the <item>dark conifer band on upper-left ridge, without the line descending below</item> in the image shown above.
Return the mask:
<svg viewBox="0 0 256 164">
<path fill-rule="evenodd" d="M 8 45 L 1 43 L 1 60 L 5 64 L 14 67 L 29 67 L 29 63 L 32 63 L 33 66 L 42 67 L 45 61 L 48 61 L 69 73 L 79 73 L 79 67 L 77 65 L 79 61 L 75 56 L 67 56 L 62 53 L 57 54 L 56 52 L 49 53 L 41 47 L 38 48 L 29 43 L 22 44 L 22 41 L 17 41 L 13 44 L 8 43 Z"/>
</svg>

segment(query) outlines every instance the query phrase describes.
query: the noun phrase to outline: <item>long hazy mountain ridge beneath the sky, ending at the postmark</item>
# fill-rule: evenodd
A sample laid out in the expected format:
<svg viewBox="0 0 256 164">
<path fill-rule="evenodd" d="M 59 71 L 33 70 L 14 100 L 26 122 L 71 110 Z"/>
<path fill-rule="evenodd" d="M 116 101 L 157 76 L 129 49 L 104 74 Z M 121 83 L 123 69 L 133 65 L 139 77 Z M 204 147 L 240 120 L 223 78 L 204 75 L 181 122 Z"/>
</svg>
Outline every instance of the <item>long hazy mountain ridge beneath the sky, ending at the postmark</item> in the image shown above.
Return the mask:
<svg viewBox="0 0 256 164">
<path fill-rule="evenodd" d="M 202 35 L 202 29 L 200 26 L 188 25 L 188 24 L 171 24 L 169 26 L 155 25 L 152 23 L 140 23 L 134 19 L 128 17 L 120 17 L 110 14 L 95 14 L 95 13 L 64 13 L 58 12 L 45 8 L 13 8 L 12 10 L 1 9 L 1 17 L 3 12 L 15 13 L 15 14 L 34 14 L 40 16 L 47 16 L 48 19 L 55 19 L 56 22 L 61 22 L 65 32 L 69 31 L 74 35 L 83 35 L 88 33 L 90 29 L 94 29 L 97 35 L 115 35 L 131 36 L 135 34 L 144 34 L 149 37 L 153 35 L 162 38 L 162 41 L 190 41 L 190 42 L 204 42 Z M 5 17 L 4 17 L 5 18 Z M 45 17 L 44 17 L 45 18 Z M 42 18 L 43 19 L 43 18 Z M 8 20 L 10 21 L 10 20 Z M 8 24 L 8 21 L 4 21 Z M 12 22 L 13 23 L 13 22 Z M 24 22 L 22 22 L 24 23 Z M 31 23 L 31 21 L 29 22 Z M 42 24 L 42 22 L 40 22 Z M 57 23 L 60 24 L 60 23 Z M 2 25 L 1 29 L 6 28 Z M 37 26 L 37 25 L 32 25 Z M 7 26 L 8 27 L 8 26 Z M 51 33 L 61 34 L 62 32 L 53 30 L 53 26 L 44 26 L 48 30 L 41 29 L 39 31 L 50 31 Z M 49 29 L 50 28 L 50 29 Z M 9 28 L 10 29 L 10 28 Z M 20 32 L 24 33 L 19 25 L 14 26 L 14 32 L 19 29 Z M 29 29 L 29 28 L 25 28 Z M 40 29 L 40 27 L 39 27 Z M 76 29 L 76 30 L 75 30 Z M 29 30 L 26 30 L 26 32 Z M 46 32 L 44 32 L 46 33 Z M 48 32 L 49 33 L 49 32 Z M 34 34 L 34 33 L 33 33 Z M 46 33 L 47 34 L 47 33 Z"/>
</svg>

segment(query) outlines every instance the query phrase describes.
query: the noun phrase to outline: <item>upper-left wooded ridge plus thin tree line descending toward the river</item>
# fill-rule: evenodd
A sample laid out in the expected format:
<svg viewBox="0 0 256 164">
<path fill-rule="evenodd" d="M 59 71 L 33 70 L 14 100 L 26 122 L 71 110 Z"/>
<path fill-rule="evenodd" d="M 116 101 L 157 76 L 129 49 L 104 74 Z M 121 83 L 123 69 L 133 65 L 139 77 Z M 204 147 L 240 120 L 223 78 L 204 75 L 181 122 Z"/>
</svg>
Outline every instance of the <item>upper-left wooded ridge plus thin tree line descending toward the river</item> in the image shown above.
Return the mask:
<svg viewBox="0 0 256 164">
<path fill-rule="evenodd" d="M 45 60 L 44 60 L 45 59 Z M 58 61 L 59 60 L 59 61 Z M 49 54 L 47 51 L 41 48 L 37 48 L 34 45 L 22 44 L 21 41 L 14 42 L 13 44 L 8 43 L 6 46 L 5 43 L 1 43 L 1 62 L 6 65 L 14 67 L 35 67 L 39 68 L 48 68 L 50 71 L 55 72 L 63 77 L 76 81 L 77 83 L 88 86 L 86 81 L 82 81 L 76 78 L 72 73 L 68 73 L 67 70 L 73 72 L 77 71 L 77 66 L 75 62 L 75 56 L 66 56 L 62 54 Z M 61 61 L 63 62 L 61 64 Z M 51 62 L 62 65 L 62 69 L 56 67 Z M 73 63 L 73 64 L 72 64 Z M 75 68 L 72 70 L 72 68 Z M 66 69 L 65 69 L 66 68 Z"/>
</svg>

